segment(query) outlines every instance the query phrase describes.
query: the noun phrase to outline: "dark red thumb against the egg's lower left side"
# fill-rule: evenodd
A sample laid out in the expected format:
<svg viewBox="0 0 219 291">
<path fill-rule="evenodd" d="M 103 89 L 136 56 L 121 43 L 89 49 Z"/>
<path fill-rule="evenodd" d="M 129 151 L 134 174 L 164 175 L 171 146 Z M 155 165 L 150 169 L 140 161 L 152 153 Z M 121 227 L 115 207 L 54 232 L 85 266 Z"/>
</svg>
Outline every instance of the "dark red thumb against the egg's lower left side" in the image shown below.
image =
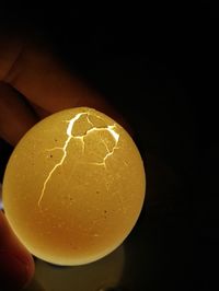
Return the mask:
<svg viewBox="0 0 219 291">
<path fill-rule="evenodd" d="M 10 230 L 0 211 L 0 284 L 3 290 L 20 290 L 34 275 L 34 260 Z"/>
</svg>

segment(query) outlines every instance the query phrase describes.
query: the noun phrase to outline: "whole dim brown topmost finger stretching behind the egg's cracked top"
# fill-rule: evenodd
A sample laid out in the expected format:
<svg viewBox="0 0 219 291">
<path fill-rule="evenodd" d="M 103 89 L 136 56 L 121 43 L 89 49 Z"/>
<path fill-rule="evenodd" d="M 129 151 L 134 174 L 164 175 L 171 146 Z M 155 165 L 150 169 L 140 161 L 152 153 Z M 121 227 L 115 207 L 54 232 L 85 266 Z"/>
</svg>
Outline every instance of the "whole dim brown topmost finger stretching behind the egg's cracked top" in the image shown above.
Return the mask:
<svg viewBox="0 0 219 291">
<path fill-rule="evenodd" d="M 51 51 L 18 39 L 1 39 L 0 80 L 12 84 L 31 102 L 48 112 L 94 105 L 91 94 L 53 57 Z M 89 95 L 89 96 L 88 96 Z M 84 101 L 84 102 L 83 102 Z"/>
</svg>

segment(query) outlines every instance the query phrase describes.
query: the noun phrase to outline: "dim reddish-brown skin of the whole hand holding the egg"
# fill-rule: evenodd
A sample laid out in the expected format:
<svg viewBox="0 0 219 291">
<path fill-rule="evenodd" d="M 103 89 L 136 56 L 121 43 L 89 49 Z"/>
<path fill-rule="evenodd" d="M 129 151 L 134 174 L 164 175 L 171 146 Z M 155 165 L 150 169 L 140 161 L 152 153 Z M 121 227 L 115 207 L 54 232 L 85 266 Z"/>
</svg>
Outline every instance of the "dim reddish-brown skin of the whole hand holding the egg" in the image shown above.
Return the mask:
<svg viewBox="0 0 219 291">
<path fill-rule="evenodd" d="M 89 90 L 53 56 L 31 42 L 0 37 L 0 137 L 15 146 L 39 119 L 65 108 L 89 106 L 122 125 L 110 103 Z M 0 156 L 1 158 L 1 156 Z M 34 275 L 34 260 L 0 211 L 0 282 L 16 289 Z"/>
</svg>

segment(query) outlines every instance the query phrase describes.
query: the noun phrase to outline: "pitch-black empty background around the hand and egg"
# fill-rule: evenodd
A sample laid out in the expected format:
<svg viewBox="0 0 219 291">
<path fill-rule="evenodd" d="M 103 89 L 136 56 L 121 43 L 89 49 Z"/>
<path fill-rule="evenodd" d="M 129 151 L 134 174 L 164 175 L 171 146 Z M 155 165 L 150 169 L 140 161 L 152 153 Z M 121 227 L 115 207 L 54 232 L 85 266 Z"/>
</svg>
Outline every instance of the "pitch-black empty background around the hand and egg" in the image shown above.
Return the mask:
<svg viewBox="0 0 219 291">
<path fill-rule="evenodd" d="M 135 130 L 148 190 L 126 242 L 122 287 L 210 290 L 218 281 L 216 7 L 59 3 L 1 14 L 2 31 L 46 39 Z M 2 177 L 11 149 L 1 141 L 0 150 Z"/>
</svg>

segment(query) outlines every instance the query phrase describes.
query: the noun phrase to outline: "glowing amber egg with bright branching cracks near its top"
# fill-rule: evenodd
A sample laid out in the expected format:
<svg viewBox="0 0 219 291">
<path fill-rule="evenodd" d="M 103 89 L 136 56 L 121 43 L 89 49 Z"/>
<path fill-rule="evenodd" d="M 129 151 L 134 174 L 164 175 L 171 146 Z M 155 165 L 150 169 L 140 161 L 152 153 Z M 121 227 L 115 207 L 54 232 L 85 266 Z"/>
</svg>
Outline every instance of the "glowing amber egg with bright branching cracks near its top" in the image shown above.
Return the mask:
<svg viewBox="0 0 219 291">
<path fill-rule="evenodd" d="M 123 243 L 145 190 L 130 136 L 103 113 L 78 107 L 50 115 L 21 139 L 5 170 L 3 206 L 33 255 L 82 265 Z"/>
</svg>

